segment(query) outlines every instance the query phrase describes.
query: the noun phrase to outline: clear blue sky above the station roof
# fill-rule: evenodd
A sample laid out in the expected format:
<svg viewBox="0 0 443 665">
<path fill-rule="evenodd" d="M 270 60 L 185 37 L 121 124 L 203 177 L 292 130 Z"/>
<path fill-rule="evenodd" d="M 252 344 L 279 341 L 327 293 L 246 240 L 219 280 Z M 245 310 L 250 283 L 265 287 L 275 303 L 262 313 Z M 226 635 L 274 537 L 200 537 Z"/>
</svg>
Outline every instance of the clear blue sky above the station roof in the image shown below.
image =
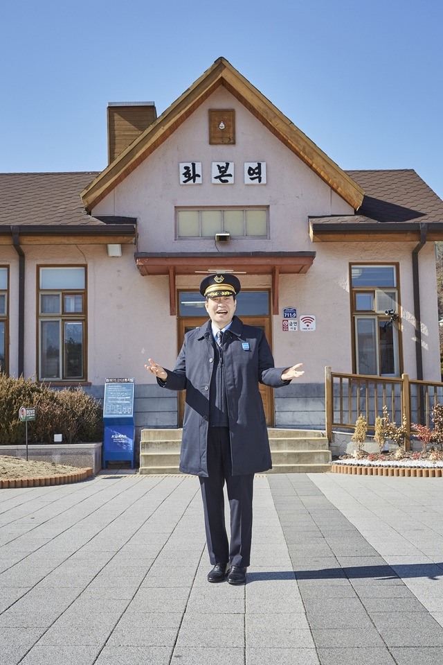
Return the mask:
<svg viewBox="0 0 443 665">
<path fill-rule="evenodd" d="M 109 101 L 161 114 L 220 56 L 342 169 L 443 198 L 442 0 L 3 3 L 0 171 L 100 171 Z"/>
</svg>

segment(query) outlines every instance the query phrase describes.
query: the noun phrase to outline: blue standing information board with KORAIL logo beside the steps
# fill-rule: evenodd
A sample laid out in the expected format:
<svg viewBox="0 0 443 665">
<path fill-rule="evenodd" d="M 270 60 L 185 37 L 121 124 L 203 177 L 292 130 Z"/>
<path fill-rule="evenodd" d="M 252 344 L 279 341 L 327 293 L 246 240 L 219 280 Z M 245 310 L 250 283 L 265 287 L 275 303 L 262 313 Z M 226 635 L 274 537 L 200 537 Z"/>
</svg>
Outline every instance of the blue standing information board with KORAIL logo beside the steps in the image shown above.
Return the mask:
<svg viewBox="0 0 443 665">
<path fill-rule="evenodd" d="M 105 379 L 103 401 L 103 468 L 109 461 L 129 460 L 134 469 L 135 379 Z"/>
</svg>

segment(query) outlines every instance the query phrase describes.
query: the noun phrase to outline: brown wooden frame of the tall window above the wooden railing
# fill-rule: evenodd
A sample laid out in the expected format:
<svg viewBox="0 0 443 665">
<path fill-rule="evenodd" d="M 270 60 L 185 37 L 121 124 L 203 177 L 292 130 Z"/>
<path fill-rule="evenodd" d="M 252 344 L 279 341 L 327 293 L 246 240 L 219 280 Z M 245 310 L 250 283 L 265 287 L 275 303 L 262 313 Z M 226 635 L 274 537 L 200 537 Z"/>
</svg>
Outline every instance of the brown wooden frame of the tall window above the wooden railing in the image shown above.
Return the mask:
<svg viewBox="0 0 443 665">
<path fill-rule="evenodd" d="M 368 268 L 383 268 L 390 267 L 394 269 L 393 275 L 395 279 L 395 286 L 354 286 L 352 284 L 352 270 L 358 267 Z M 359 338 L 358 338 L 358 321 L 359 320 L 374 320 L 375 329 L 375 361 L 377 364 L 377 374 L 374 376 L 379 377 L 398 377 L 403 372 L 403 353 L 401 343 L 401 327 L 399 319 L 392 322 L 392 327 L 395 334 L 392 336 L 392 349 L 394 354 L 394 372 L 381 374 L 381 325 L 390 321 L 390 316 L 386 314 L 387 309 L 379 309 L 381 306 L 380 300 L 386 297 L 396 296 L 395 300 L 395 313 L 399 316 L 401 311 L 400 304 L 400 287 L 399 287 L 399 264 L 395 262 L 376 262 L 376 261 L 358 261 L 349 264 L 350 275 L 350 307 L 351 307 L 351 330 L 352 330 L 352 372 L 353 374 L 360 374 L 360 361 L 359 361 Z M 356 297 L 359 293 L 372 295 L 372 309 L 357 309 Z M 392 295 L 391 295 L 392 294 Z M 377 309 L 378 307 L 378 309 Z"/>
</svg>

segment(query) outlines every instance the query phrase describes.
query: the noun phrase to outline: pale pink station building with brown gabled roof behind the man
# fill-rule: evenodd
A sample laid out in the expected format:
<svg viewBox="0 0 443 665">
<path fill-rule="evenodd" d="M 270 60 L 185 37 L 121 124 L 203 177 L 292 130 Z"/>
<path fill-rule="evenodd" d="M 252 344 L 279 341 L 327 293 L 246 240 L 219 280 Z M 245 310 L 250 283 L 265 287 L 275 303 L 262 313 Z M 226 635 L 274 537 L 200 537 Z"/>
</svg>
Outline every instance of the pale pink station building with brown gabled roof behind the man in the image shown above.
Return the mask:
<svg viewBox="0 0 443 665">
<path fill-rule="evenodd" d="M 325 366 L 440 381 L 443 201 L 415 171 L 343 171 L 224 58 L 159 116 L 109 103 L 107 128 L 101 173 L 0 175 L 3 370 L 100 398 L 133 377 L 137 431 L 177 428 L 145 364 L 172 368 L 223 270 L 276 365 L 304 363 L 262 386 L 269 426 L 324 426 Z"/>
</svg>

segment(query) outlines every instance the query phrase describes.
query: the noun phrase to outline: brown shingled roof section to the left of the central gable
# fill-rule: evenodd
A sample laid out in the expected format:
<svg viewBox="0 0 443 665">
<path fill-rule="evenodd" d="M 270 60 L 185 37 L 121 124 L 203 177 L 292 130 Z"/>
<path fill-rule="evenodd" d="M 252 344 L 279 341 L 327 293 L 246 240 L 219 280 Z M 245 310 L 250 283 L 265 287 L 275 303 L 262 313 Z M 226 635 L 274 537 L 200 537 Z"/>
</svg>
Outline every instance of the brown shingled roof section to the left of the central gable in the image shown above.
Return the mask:
<svg viewBox="0 0 443 665">
<path fill-rule="evenodd" d="M 63 243 L 131 243 L 136 220 L 91 217 L 80 190 L 97 172 L 0 173 L 0 245 L 48 243 L 62 236 Z M 17 241 L 17 239 L 16 239 Z"/>
</svg>

